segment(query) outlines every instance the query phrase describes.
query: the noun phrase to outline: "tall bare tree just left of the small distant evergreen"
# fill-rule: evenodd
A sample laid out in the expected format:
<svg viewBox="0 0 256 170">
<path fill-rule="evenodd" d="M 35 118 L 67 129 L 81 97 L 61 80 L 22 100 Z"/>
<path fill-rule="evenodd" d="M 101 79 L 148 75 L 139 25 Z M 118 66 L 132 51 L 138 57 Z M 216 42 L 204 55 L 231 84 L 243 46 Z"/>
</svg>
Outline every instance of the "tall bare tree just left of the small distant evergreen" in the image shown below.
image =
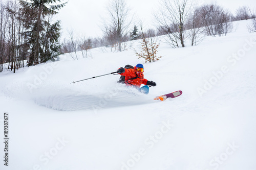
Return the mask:
<svg viewBox="0 0 256 170">
<path fill-rule="evenodd" d="M 109 18 L 103 21 L 105 36 L 109 37 L 111 43 L 114 41 L 118 45 L 119 52 L 123 50 L 122 42 L 129 40 L 129 12 L 125 0 L 112 0 L 108 6 Z"/>
</svg>

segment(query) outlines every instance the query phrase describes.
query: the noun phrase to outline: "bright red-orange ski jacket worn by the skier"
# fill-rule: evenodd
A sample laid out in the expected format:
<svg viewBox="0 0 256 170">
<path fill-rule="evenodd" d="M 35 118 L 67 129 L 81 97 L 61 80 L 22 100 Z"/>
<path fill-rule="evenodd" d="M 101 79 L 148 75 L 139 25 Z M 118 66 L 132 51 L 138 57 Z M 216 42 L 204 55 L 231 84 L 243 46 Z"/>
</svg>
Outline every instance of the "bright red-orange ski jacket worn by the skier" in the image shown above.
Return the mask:
<svg viewBox="0 0 256 170">
<path fill-rule="evenodd" d="M 136 71 L 136 66 L 134 68 L 124 68 L 125 71 L 121 73 L 121 76 L 125 76 L 124 83 L 127 85 L 133 85 L 140 87 L 141 84 L 146 85 L 147 80 L 144 79 L 142 72 Z"/>
</svg>

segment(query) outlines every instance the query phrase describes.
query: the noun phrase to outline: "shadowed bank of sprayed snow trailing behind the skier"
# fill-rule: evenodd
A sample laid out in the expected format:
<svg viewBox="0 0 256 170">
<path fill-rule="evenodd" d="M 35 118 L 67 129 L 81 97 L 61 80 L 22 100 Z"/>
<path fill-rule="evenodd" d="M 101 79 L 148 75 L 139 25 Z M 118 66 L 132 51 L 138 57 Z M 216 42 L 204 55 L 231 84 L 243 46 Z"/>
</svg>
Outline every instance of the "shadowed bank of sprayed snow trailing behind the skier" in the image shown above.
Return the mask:
<svg viewBox="0 0 256 170">
<path fill-rule="evenodd" d="M 56 94 L 40 96 L 35 103 L 55 110 L 75 111 L 94 110 L 112 107 L 124 107 L 133 105 L 150 104 L 152 98 L 146 98 L 144 94 L 119 92 L 117 94 L 101 93 L 99 95 L 86 94 Z"/>
</svg>

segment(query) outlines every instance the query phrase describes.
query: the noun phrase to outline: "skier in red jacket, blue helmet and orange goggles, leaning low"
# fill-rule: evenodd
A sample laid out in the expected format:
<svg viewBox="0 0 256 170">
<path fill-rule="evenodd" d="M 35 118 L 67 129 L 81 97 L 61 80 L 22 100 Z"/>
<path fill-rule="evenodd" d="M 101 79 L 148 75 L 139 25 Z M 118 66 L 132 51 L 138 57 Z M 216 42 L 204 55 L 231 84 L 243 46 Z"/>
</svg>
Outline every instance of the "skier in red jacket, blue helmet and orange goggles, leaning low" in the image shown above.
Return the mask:
<svg viewBox="0 0 256 170">
<path fill-rule="evenodd" d="M 121 75 L 119 83 L 124 83 L 126 85 L 131 85 L 139 89 L 140 92 L 148 93 L 148 86 L 156 86 L 157 84 L 153 81 L 148 81 L 144 79 L 144 67 L 142 64 L 137 64 L 135 67 L 131 65 L 125 65 L 117 70 L 118 74 Z M 141 87 L 141 84 L 145 86 Z"/>
</svg>

